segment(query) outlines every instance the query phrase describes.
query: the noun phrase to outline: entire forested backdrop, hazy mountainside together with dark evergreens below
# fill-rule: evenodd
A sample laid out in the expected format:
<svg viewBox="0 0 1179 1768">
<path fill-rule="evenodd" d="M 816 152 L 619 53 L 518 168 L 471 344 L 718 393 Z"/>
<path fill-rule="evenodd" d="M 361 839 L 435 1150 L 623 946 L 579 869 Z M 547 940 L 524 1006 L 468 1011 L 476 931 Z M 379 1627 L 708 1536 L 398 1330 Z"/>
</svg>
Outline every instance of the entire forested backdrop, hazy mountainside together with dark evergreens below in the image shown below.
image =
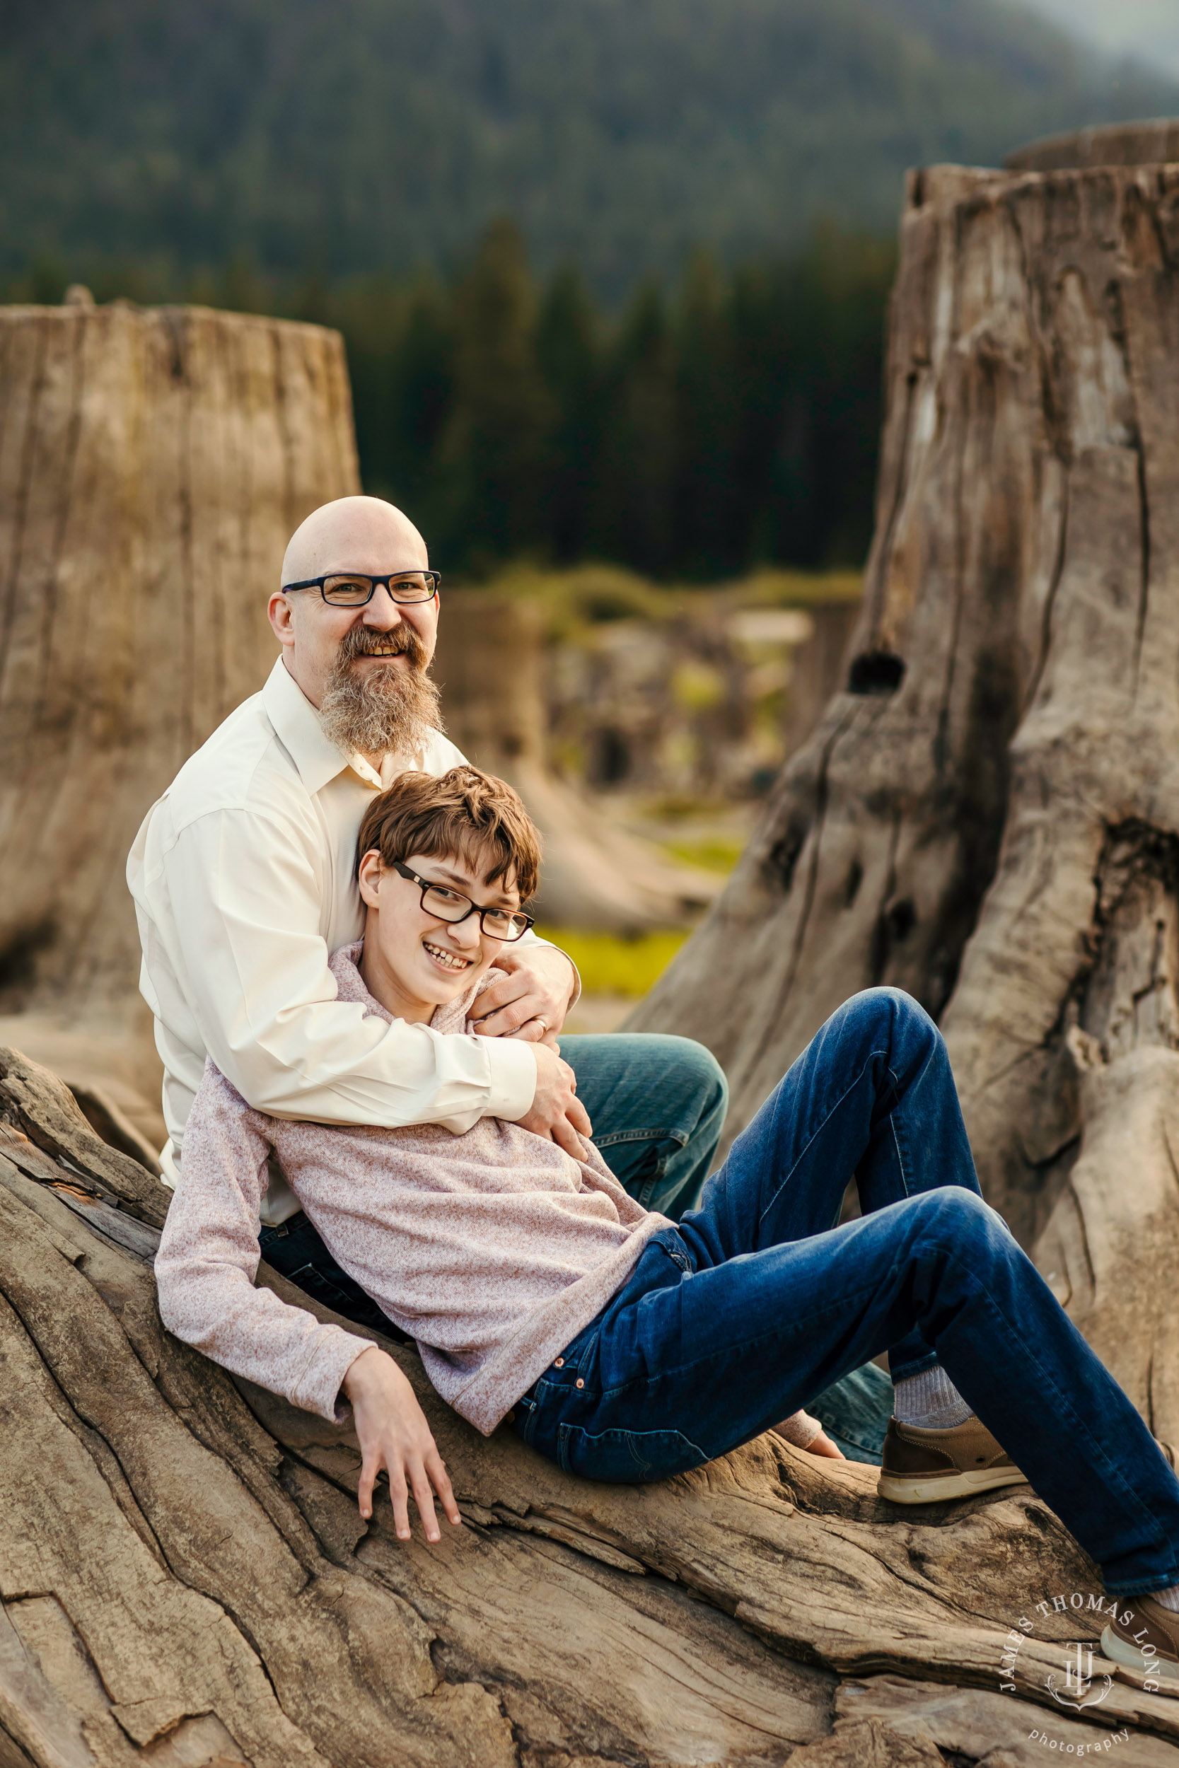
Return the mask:
<svg viewBox="0 0 1179 1768">
<path fill-rule="evenodd" d="M 445 571 L 841 566 L 905 168 L 1165 111 L 1006 0 L 7 0 L 0 295 L 338 325 Z"/>
</svg>

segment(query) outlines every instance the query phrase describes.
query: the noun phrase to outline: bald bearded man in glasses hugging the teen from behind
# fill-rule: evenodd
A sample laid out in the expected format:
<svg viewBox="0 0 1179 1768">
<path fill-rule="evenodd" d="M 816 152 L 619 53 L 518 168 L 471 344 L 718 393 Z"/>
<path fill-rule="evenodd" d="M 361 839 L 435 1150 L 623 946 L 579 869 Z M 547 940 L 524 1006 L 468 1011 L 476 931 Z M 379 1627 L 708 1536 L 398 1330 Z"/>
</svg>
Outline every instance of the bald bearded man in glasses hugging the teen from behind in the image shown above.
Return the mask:
<svg viewBox="0 0 1179 1768">
<path fill-rule="evenodd" d="M 686 1038 L 562 1038 L 580 983 L 532 934 L 475 1002 L 479 1036 L 385 1024 L 338 1001 L 329 956 L 359 939 L 355 842 L 403 769 L 463 755 L 438 728 L 428 668 L 438 580 L 414 523 L 373 497 L 316 509 L 292 536 L 269 619 L 281 654 L 152 804 L 127 861 L 141 990 L 164 1063 L 175 1185 L 210 1055 L 255 1110 L 318 1123 L 516 1121 L 576 1149 L 594 1133 L 645 1208 L 695 1202 L 725 1117 L 725 1077 Z M 387 1321 L 334 1264 L 279 1172 L 262 1246 L 352 1319 Z"/>
</svg>

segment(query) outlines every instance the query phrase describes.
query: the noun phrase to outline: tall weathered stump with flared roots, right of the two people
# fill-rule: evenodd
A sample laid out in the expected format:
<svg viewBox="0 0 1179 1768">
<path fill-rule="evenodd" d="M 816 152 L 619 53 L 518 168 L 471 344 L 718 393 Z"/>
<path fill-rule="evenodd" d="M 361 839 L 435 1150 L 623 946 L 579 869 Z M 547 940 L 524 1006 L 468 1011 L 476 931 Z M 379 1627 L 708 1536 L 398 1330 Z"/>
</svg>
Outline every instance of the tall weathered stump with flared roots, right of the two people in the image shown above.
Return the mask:
<svg viewBox="0 0 1179 1768">
<path fill-rule="evenodd" d="M 732 1133 L 910 990 L 988 1200 L 1179 1441 L 1179 164 L 1045 156 L 910 179 L 847 690 L 633 1024 L 716 1050 Z"/>
</svg>

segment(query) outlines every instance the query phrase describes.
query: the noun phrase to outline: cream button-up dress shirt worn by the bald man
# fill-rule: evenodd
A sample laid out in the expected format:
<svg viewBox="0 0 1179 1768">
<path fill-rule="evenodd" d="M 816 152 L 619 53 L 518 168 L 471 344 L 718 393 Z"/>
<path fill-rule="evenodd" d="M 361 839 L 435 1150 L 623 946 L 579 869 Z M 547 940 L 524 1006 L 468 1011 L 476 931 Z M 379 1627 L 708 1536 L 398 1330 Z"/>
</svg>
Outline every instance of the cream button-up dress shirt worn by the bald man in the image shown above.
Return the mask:
<svg viewBox="0 0 1179 1768">
<path fill-rule="evenodd" d="M 315 1123 L 523 1117 L 536 1061 L 513 1038 L 385 1024 L 336 997 L 329 958 L 361 937 L 361 819 L 407 769 L 444 774 L 463 755 L 440 732 L 377 774 L 323 734 L 279 658 L 262 693 L 214 730 L 143 819 L 127 859 L 143 944 L 140 990 L 164 1064 L 161 1165 L 175 1185 L 184 1124 L 212 1055 L 242 1098 Z M 525 939 L 534 941 L 527 934 Z M 299 1209 L 276 1174 L 263 1220 Z"/>
</svg>

